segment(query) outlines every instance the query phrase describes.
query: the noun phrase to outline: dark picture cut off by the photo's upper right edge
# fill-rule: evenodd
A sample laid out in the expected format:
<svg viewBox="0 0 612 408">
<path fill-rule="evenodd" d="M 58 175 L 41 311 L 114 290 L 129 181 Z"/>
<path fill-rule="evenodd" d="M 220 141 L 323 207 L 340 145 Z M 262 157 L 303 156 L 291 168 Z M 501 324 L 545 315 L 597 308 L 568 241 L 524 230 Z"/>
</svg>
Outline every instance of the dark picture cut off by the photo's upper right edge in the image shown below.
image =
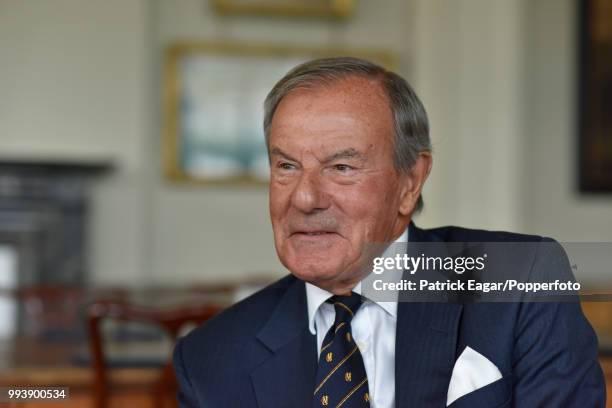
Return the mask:
<svg viewBox="0 0 612 408">
<path fill-rule="evenodd" d="M 580 190 L 612 192 L 612 2 L 579 3 Z"/>
</svg>

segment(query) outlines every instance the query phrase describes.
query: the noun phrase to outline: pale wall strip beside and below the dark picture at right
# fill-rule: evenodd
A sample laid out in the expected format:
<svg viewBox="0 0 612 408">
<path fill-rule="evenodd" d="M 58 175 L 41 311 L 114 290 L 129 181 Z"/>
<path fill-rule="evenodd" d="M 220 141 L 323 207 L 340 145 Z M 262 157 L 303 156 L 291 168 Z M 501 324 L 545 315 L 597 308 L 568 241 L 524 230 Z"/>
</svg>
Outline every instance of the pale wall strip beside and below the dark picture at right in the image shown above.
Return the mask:
<svg viewBox="0 0 612 408">
<path fill-rule="evenodd" d="M 528 177 L 521 211 L 526 231 L 566 242 L 611 242 L 612 196 L 578 192 L 575 3 L 529 3 L 522 152 Z"/>
</svg>

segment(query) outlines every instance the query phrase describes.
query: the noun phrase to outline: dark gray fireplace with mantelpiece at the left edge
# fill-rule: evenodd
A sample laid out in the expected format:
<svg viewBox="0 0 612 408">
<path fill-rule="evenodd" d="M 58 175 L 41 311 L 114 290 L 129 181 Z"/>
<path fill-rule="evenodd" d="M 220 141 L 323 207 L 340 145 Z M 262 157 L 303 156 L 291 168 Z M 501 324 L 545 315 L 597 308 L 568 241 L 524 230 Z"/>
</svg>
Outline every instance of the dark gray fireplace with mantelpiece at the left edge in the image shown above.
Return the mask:
<svg viewBox="0 0 612 408">
<path fill-rule="evenodd" d="M 106 162 L 0 159 L 0 292 L 87 285 L 88 193 L 111 169 Z M 0 298 L 0 319 L 7 322 L 2 337 L 36 331 L 26 309 L 50 312 L 40 302 L 12 305 L 18 298 Z"/>
</svg>

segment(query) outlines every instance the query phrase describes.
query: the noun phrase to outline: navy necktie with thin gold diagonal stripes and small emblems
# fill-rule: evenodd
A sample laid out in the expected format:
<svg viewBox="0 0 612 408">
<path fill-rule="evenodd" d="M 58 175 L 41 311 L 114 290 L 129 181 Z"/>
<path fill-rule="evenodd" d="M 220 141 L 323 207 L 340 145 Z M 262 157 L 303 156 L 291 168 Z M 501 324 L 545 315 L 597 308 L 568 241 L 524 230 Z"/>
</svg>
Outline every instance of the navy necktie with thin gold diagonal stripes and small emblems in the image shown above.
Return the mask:
<svg viewBox="0 0 612 408">
<path fill-rule="evenodd" d="M 312 406 L 369 407 L 368 378 L 351 332 L 361 296 L 352 292 L 350 296 L 332 296 L 327 302 L 334 305 L 336 319 L 321 346 Z"/>
</svg>

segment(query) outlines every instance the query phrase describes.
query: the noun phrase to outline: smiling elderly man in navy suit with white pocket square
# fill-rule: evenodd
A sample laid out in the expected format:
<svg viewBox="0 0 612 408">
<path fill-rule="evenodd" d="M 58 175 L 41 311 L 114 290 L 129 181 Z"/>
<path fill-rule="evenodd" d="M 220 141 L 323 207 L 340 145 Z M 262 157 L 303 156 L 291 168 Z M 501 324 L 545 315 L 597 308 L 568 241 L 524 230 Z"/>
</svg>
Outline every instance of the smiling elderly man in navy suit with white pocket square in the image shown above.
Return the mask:
<svg viewBox="0 0 612 408">
<path fill-rule="evenodd" d="M 604 405 L 576 303 L 361 296 L 372 243 L 541 240 L 411 222 L 432 157 L 425 110 L 401 77 L 354 58 L 304 63 L 266 98 L 264 130 L 274 241 L 291 275 L 178 343 L 181 406 Z"/>
</svg>

